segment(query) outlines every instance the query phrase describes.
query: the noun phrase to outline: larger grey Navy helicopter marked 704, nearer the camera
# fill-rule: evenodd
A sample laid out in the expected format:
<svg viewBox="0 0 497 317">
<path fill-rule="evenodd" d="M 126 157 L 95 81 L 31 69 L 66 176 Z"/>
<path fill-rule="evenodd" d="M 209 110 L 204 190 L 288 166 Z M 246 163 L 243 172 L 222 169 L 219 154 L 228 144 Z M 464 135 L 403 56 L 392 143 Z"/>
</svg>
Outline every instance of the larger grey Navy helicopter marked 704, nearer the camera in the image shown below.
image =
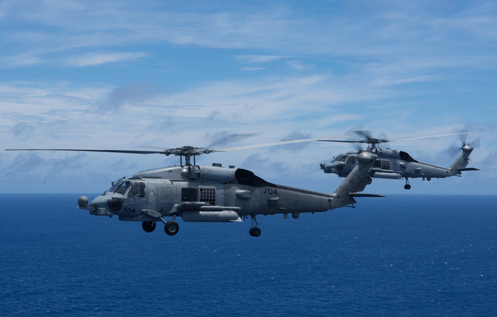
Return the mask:
<svg viewBox="0 0 497 317">
<path fill-rule="evenodd" d="M 117 216 L 121 221 L 141 222 L 142 229 L 151 233 L 162 222 L 168 236 L 179 231 L 176 218 L 184 222 L 241 222 L 251 218 L 249 235 L 259 237 L 257 215 L 283 214 L 294 219 L 300 213 L 325 212 L 340 207 L 355 208 L 355 197 L 385 197 L 358 193 L 364 190 L 366 176 L 377 156 L 363 152 L 357 164 L 333 193 L 311 191 L 273 184 L 252 171 L 235 166 L 223 167 L 195 164 L 195 157 L 212 152 L 230 152 L 262 146 L 296 143 L 277 142 L 258 146 L 244 146 L 214 150 L 183 146 L 164 151 L 99 150 L 99 149 L 9 149 L 6 151 L 85 151 L 126 154 L 163 154 L 180 157 L 179 166 L 144 170 L 113 181 L 112 186 L 89 202 L 78 198 L 78 208 L 95 216 Z M 183 164 L 183 158 L 185 160 Z M 191 163 L 193 158 L 193 164 Z M 166 221 L 165 217 L 171 217 Z"/>
</svg>

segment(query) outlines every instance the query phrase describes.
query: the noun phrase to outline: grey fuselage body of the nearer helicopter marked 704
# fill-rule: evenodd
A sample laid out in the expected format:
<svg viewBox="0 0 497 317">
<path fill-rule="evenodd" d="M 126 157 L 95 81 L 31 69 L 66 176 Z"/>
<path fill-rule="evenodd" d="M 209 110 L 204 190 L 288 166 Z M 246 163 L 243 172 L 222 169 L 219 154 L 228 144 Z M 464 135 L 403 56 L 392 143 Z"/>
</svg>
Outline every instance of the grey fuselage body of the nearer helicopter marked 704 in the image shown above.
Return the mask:
<svg viewBox="0 0 497 317">
<path fill-rule="evenodd" d="M 160 217 L 184 221 L 232 222 L 252 215 L 323 212 L 354 203 L 353 198 L 272 184 L 241 168 L 172 166 L 146 170 L 113 184 L 80 209 L 122 221 L 154 222 Z"/>
</svg>

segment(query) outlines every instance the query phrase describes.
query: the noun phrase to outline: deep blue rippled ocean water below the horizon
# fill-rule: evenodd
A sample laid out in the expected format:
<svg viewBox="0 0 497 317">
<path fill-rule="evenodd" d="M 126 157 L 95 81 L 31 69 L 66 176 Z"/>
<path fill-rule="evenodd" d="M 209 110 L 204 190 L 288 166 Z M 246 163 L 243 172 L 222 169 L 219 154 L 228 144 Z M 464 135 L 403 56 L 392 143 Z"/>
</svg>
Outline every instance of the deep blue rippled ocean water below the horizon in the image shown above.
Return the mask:
<svg viewBox="0 0 497 317">
<path fill-rule="evenodd" d="M 76 209 L 78 196 L 0 194 L 1 316 L 497 312 L 497 196 L 358 198 L 259 216 L 259 238 L 250 221 L 147 234 Z"/>
</svg>

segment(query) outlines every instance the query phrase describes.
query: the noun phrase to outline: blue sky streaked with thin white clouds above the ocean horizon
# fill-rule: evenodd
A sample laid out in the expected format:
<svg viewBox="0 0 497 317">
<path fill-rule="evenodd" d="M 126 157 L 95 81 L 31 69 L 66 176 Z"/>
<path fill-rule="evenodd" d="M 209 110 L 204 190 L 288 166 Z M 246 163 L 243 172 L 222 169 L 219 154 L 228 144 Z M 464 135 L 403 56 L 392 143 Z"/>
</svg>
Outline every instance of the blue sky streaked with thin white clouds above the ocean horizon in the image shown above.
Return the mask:
<svg viewBox="0 0 497 317">
<path fill-rule="evenodd" d="M 163 155 L 4 149 L 168 149 L 470 131 L 462 177 L 375 179 L 378 194 L 495 194 L 496 1 L 0 1 L 2 193 L 100 193 L 179 164 Z M 245 136 L 222 142 L 226 136 Z M 225 140 L 226 141 L 226 140 Z M 456 136 L 390 143 L 448 167 Z M 310 142 L 196 158 L 333 192 Z M 365 199 L 365 198 L 363 198 Z"/>
</svg>

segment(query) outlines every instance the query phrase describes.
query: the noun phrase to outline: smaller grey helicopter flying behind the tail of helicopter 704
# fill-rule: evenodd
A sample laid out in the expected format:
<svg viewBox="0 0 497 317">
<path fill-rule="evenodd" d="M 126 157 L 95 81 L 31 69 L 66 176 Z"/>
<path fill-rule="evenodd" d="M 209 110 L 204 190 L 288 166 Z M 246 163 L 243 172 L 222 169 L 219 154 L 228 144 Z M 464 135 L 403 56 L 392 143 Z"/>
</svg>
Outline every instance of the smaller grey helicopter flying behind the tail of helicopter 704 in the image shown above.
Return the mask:
<svg viewBox="0 0 497 317">
<path fill-rule="evenodd" d="M 346 177 L 357 164 L 357 156 L 361 153 L 371 153 L 378 156 L 375 160 L 373 166 L 368 172 L 367 182 L 371 184 L 372 178 L 387 178 L 387 179 L 402 179 L 405 178 L 406 184 L 405 189 L 411 189 L 411 184 L 409 184 L 409 178 L 422 178 L 423 180 L 431 180 L 432 178 L 445 178 L 450 176 L 461 176 L 463 171 L 479 170 L 474 167 L 466 167 L 469 162 L 469 156 L 475 148 L 479 146 L 479 139 L 474 140 L 470 145 L 467 142 L 466 136 L 467 131 L 460 133 L 450 133 L 441 134 L 426 137 L 415 137 L 399 140 L 387 140 L 387 139 L 377 139 L 372 138 L 369 131 L 351 131 L 363 139 L 361 140 L 318 140 L 325 142 L 345 142 L 345 143 L 363 143 L 367 144 L 367 149 L 359 149 L 356 151 L 350 151 L 345 154 L 340 154 L 330 162 L 322 162 L 320 164 L 321 169 L 325 173 L 334 173 L 339 177 Z M 462 146 L 449 148 L 449 153 L 451 156 L 457 154 L 462 150 L 460 155 L 456 160 L 450 165 L 450 167 L 442 167 L 429 163 L 423 163 L 412 158 L 407 152 L 392 150 L 389 148 L 382 149 L 379 147 L 382 143 L 396 142 L 396 141 L 408 141 L 424 138 L 433 137 L 443 137 L 450 135 L 459 135 L 461 138 Z"/>
</svg>

